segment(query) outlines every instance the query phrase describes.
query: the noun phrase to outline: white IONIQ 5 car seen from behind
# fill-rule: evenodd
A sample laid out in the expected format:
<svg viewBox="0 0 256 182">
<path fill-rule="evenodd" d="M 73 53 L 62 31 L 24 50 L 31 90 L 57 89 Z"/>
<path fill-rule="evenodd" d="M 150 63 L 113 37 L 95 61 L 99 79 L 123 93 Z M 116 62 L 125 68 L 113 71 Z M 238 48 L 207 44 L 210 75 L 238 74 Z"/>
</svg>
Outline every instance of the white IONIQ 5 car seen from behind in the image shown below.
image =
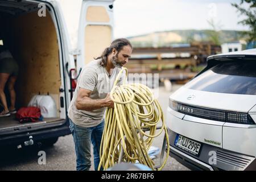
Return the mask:
<svg viewBox="0 0 256 182">
<path fill-rule="evenodd" d="M 256 49 L 209 56 L 169 98 L 170 155 L 190 169 L 256 169 Z"/>
</svg>

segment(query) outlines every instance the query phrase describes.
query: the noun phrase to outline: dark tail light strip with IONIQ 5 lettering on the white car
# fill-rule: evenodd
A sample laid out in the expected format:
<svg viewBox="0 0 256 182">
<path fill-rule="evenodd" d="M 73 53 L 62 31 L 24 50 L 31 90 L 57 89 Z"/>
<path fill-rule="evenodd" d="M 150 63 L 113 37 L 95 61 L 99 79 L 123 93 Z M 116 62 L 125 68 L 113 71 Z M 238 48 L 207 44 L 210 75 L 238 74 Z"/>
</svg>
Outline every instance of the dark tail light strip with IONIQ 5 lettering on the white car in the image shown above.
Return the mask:
<svg viewBox="0 0 256 182">
<path fill-rule="evenodd" d="M 169 106 L 171 109 L 178 111 L 179 113 L 192 115 L 194 117 L 210 119 L 214 121 L 255 125 L 255 122 L 247 113 L 187 105 L 173 100 L 169 100 Z"/>
</svg>

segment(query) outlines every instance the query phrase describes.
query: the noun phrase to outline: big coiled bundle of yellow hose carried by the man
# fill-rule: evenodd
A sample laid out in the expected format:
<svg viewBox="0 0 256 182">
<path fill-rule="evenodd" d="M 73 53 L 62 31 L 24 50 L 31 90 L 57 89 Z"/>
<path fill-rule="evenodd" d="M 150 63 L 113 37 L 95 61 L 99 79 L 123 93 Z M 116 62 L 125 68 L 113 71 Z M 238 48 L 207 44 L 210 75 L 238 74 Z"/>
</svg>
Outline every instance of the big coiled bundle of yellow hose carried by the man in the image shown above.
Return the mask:
<svg viewBox="0 0 256 182">
<path fill-rule="evenodd" d="M 153 139 L 164 131 L 168 148 L 166 158 L 158 168 L 161 170 L 170 152 L 162 108 L 146 85 L 123 83 L 117 86 L 123 71 L 126 71 L 127 77 L 127 68 L 122 68 L 110 92 L 114 108 L 106 109 L 98 170 L 101 166 L 105 170 L 117 164 L 119 155 L 122 155 L 121 150 L 123 150 L 122 162 L 135 163 L 138 160 L 139 163 L 154 170 L 155 163 L 148 155 L 148 150 Z M 162 127 L 156 133 L 156 127 L 161 121 Z"/>
</svg>

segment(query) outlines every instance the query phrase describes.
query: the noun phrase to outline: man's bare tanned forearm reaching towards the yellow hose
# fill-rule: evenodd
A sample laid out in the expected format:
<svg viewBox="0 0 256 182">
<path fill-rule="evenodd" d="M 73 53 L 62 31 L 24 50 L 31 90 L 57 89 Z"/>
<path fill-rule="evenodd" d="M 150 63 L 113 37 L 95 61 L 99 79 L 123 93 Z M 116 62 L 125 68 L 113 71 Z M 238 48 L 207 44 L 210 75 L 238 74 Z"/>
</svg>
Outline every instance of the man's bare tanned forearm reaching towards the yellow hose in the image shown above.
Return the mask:
<svg viewBox="0 0 256 182">
<path fill-rule="evenodd" d="M 96 110 L 101 109 L 102 107 L 106 107 L 105 99 L 94 100 L 89 97 L 84 97 L 80 101 L 76 101 L 76 108 L 79 110 Z"/>
</svg>

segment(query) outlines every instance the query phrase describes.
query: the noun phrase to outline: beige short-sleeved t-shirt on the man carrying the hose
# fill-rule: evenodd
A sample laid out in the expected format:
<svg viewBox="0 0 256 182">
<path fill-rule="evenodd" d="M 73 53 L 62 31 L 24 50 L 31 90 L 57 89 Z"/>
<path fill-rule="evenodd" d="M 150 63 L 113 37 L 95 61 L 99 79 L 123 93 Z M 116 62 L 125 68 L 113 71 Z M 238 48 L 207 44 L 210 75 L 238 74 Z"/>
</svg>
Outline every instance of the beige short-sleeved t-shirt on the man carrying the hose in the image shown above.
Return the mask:
<svg viewBox="0 0 256 182">
<path fill-rule="evenodd" d="M 115 78 L 117 77 L 121 68 L 114 68 L 112 75 L 109 76 L 105 67 L 100 65 L 100 59 L 90 61 L 82 69 L 75 93 L 73 95 L 71 104 L 68 108 L 68 117 L 77 125 L 81 127 L 93 127 L 101 123 L 104 118 L 106 107 L 96 109 L 92 111 L 78 110 L 76 109 L 76 98 L 79 88 L 91 90 L 90 98 L 98 100 L 106 97 L 113 88 Z M 119 84 L 121 84 L 123 76 L 120 78 Z"/>
</svg>

